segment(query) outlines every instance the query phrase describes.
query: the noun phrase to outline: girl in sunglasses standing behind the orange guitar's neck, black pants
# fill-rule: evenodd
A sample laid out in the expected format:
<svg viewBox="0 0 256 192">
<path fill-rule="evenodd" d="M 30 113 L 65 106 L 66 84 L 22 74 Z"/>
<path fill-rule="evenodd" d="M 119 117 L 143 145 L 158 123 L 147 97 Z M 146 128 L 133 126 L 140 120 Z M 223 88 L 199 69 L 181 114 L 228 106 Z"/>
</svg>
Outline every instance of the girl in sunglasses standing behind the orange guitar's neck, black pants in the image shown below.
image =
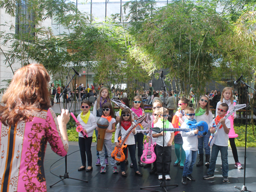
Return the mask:
<svg viewBox="0 0 256 192">
<path fill-rule="evenodd" d="M 133 99 L 133 108 L 132 110 L 138 115 L 138 117 L 145 115 L 144 113 L 144 105 L 143 102 L 140 98 L 140 96 L 135 96 Z M 135 120 L 137 120 L 137 118 L 133 117 Z M 143 126 L 144 129 L 148 128 L 147 124 L 145 122 L 142 122 L 141 125 Z M 136 129 L 138 128 L 138 126 L 136 127 Z M 143 166 L 143 163 L 140 161 L 141 155 L 143 154 L 143 139 L 144 139 L 144 134 L 143 133 L 138 133 L 135 136 L 135 145 L 138 146 L 138 163 L 139 166 Z M 131 163 L 130 165 L 131 167 L 133 167 L 133 163 Z"/>
</svg>

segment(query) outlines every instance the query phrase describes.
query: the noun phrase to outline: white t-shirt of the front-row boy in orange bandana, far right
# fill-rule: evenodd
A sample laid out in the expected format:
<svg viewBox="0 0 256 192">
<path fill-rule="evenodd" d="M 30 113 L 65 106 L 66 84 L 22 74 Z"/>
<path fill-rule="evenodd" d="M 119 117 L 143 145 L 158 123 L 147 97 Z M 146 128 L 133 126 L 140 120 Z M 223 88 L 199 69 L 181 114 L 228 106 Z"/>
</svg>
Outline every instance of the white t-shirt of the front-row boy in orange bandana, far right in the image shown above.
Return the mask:
<svg viewBox="0 0 256 192">
<path fill-rule="evenodd" d="M 212 127 L 214 122 L 215 122 L 215 119 L 213 119 L 212 122 L 210 123 L 210 128 Z M 230 121 L 228 118 L 226 119 L 225 124 L 226 124 L 227 128 L 230 129 Z M 217 146 L 227 147 L 228 139 L 229 139 L 228 134 L 225 133 L 223 127 L 221 129 L 218 129 L 217 132 L 218 132 L 218 134 L 216 136 L 214 144 Z"/>
</svg>

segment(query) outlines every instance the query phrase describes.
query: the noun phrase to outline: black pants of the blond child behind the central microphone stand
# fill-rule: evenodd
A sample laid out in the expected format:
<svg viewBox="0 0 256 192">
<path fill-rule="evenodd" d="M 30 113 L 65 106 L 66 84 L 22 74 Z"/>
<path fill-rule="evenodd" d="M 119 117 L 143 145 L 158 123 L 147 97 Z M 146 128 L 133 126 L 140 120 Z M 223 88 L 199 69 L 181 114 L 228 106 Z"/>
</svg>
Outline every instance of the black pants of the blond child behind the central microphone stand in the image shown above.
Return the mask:
<svg viewBox="0 0 256 192">
<path fill-rule="evenodd" d="M 164 174 L 169 175 L 170 162 L 172 162 L 172 146 L 164 147 L 164 159 L 163 159 L 163 147 L 157 145 L 157 174 L 162 175 L 162 162 L 164 162 Z"/>
</svg>

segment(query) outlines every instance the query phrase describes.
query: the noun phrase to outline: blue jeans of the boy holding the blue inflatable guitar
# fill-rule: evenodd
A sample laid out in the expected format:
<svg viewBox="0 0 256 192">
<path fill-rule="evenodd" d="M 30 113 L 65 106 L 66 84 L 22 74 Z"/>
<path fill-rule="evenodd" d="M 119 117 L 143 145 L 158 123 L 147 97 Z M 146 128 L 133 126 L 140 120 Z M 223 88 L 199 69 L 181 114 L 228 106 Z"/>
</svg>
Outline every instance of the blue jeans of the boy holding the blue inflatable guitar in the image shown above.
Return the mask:
<svg viewBox="0 0 256 192">
<path fill-rule="evenodd" d="M 187 150 L 185 151 L 185 153 L 186 153 L 186 160 L 184 163 L 182 177 L 187 177 L 193 172 L 193 166 L 197 159 L 197 151 Z"/>
</svg>

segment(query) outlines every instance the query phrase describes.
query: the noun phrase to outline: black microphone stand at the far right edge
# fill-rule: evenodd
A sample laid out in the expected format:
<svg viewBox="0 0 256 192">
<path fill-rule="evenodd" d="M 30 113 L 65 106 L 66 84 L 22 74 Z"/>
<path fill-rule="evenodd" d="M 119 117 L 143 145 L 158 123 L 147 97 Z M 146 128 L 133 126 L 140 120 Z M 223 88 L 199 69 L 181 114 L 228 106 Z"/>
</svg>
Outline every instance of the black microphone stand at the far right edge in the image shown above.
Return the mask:
<svg viewBox="0 0 256 192">
<path fill-rule="evenodd" d="M 251 86 L 247 85 L 245 82 L 241 81 L 241 83 L 243 83 L 244 88 L 245 88 L 245 101 L 246 101 L 246 118 L 245 118 L 245 147 L 244 147 L 244 185 L 241 187 L 238 186 L 234 186 L 235 188 L 239 189 L 240 192 L 241 191 L 249 191 L 247 190 L 247 187 L 245 185 L 245 172 L 246 172 L 246 143 L 247 143 L 247 125 L 248 125 L 248 115 L 247 115 L 247 111 L 248 111 L 248 105 L 247 105 L 247 99 L 248 99 L 248 87 L 250 87 L 252 90 L 256 91 L 255 89 L 253 89 Z"/>
</svg>

